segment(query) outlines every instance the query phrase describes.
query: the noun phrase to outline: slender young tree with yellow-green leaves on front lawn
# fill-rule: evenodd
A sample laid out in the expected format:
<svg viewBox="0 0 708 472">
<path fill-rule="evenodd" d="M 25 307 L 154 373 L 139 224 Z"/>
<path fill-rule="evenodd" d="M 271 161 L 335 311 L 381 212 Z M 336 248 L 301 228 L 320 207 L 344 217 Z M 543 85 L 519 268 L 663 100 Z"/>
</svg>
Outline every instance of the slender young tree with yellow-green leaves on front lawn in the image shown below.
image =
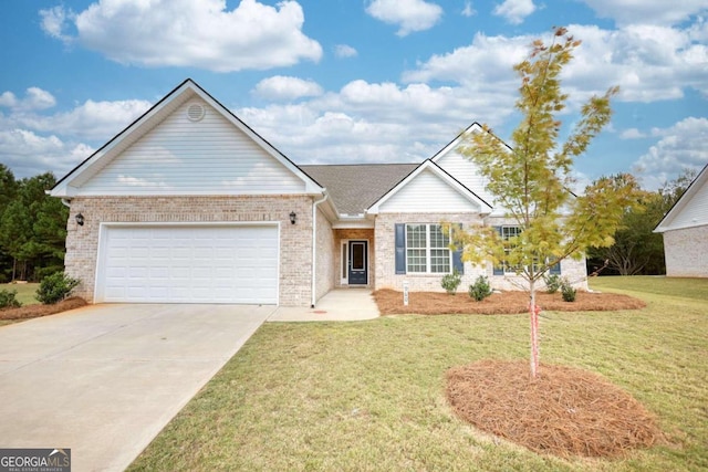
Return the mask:
<svg viewBox="0 0 708 472">
<path fill-rule="evenodd" d="M 541 277 L 561 260 L 582 256 L 589 247 L 611 245 L 637 189 L 632 176 L 624 175 L 598 179 L 582 196 L 570 190 L 574 183 L 573 159 L 610 122 L 610 98 L 618 92 L 612 87 L 603 96 L 590 98 L 568 139 L 559 144 L 561 122 L 556 115 L 568 99 L 561 92 L 560 74 L 579 45 L 580 41 L 568 35 L 564 28 L 554 30 L 550 45 L 534 41 L 529 57 L 514 66 L 521 76 L 516 103 L 521 123 L 511 135 L 511 149 L 502 146 L 487 126 L 470 136 L 462 149 L 488 178 L 487 189 L 520 232 L 502 238 L 490 227 L 457 230 L 455 242 L 465 248 L 466 260 L 478 264 L 489 259 L 496 264 L 503 262 L 524 281 L 530 295 L 532 377 L 539 369 L 535 291 Z"/>
</svg>

